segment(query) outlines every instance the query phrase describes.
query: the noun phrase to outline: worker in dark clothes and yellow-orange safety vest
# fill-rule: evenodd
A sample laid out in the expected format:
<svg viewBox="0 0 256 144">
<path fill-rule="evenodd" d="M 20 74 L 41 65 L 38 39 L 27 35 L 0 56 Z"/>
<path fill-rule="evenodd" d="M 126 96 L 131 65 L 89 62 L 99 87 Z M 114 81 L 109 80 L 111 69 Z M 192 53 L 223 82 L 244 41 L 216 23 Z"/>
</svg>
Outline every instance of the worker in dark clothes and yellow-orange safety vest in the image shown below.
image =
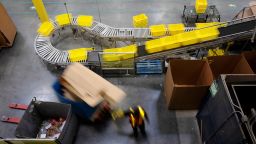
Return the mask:
<svg viewBox="0 0 256 144">
<path fill-rule="evenodd" d="M 138 136 L 138 128 L 140 129 L 141 133 L 146 136 L 144 119 L 146 119 L 147 122 L 149 122 L 149 119 L 146 111 L 141 106 L 134 108 L 130 107 L 130 109 L 125 112 L 125 116 L 129 116 L 129 121 L 131 127 L 133 128 L 133 134 L 135 137 Z"/>
</svg>

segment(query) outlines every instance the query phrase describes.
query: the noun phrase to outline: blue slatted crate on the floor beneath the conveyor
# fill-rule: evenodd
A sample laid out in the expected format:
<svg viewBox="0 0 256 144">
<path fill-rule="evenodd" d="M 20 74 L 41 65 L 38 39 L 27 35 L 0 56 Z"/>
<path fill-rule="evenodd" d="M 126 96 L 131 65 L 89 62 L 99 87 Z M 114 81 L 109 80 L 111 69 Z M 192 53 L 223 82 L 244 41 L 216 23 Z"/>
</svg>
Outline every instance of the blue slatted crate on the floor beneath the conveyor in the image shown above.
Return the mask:
<svg viewBox="0 0 256 144">
<path fill-rule="evenodd" d="M 163 62 L 161 60 L 145 60 L 136 63 L 137 74 L 162 74 Z"/>
</svg>

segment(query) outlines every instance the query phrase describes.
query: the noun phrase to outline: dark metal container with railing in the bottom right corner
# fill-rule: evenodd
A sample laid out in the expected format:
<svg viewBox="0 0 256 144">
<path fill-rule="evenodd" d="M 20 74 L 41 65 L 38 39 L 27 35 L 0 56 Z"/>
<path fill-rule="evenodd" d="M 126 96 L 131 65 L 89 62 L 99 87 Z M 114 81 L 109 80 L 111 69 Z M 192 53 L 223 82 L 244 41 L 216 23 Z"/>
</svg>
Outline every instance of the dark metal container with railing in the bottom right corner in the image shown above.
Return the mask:
<svg viewBox="0 0 256 144">
<path fill-rule="evenodd" d="M 256 75 L 221 75 L 197 114 L 205 144 L 256 143 Z"/>
</svg>

